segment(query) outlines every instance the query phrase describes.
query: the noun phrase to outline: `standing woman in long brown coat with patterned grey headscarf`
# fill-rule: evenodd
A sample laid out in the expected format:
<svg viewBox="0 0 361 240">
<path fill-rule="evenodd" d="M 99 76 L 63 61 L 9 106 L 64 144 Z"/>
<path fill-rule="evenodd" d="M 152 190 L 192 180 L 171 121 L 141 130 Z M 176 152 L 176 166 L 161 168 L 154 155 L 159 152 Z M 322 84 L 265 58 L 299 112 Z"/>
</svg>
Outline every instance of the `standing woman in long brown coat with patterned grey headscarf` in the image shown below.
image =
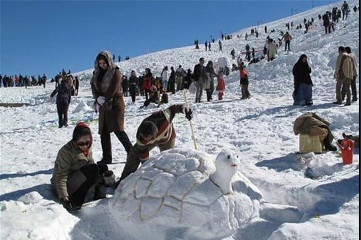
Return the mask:
<svg viewBox="0 0 361 240">
<path fill-rule="evenodd" d="M 132 147 L 124 131 L 124 99 L 121 90 L 122 75 L 113 63 L 109 51 L 101 51 L 95 59 L 95 71 L 91 81 L 95 107 L 99 109 L 99 131 L 103 159 L 101 162 L 112 163 L 112 143 L 110 133 L 114 132 L 123 144 L 127 154 Z"/>
</svg>

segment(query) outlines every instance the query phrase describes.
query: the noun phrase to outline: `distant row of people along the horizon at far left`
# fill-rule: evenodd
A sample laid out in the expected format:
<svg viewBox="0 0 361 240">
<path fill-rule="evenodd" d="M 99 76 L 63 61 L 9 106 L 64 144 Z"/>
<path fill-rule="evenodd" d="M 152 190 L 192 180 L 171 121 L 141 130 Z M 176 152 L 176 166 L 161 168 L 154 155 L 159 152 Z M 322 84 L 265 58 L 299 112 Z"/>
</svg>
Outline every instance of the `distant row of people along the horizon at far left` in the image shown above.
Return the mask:
<svg viewBox="0 0 361 240">
<path fill-rule="evenodd" d="M 38 79 L 35 78 L 35 76 L 27 76 L 25 75 L 22 76 L 21 74 L 19 74 L 19 76 L 17 74 L 15 74 L 15 76 L 1 76 L 0 74 L 0 87 L 1 87 L 1 83 L 3 83 L 3 87 L 29 87 L 29 86 L 41 86 L 43 85 L 45 88 L 45 83 L 47 82 L 47 77 L 45 75 L 45 73 L 43 74 L 43 76 L 40 77 L 40 75 L 38 75 Z"/>
</svg>

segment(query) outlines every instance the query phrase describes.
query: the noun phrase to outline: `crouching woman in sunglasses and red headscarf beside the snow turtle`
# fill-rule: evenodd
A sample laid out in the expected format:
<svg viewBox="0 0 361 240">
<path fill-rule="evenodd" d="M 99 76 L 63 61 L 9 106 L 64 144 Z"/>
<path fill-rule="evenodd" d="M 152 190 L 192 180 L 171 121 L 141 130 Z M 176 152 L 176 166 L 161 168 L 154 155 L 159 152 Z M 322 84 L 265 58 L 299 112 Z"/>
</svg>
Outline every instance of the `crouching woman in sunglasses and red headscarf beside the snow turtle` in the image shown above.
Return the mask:
<svg viewBox="0 0 361 240">
<path fill-rule="evenodd" d="M 105 198 L 100 190 L 102 181 L 114 183 L 108 182 L 114 179 L 108 166 L 94 163 L 92 141 L 90 128 L 84 122 L 79 122 L 74 128 L 73 138 L 58 151 L 50 181 L 68 210 L 79 208 L 88 201 Z M 103 180 L 103 174 L 109 178 Z"/>
</svg>

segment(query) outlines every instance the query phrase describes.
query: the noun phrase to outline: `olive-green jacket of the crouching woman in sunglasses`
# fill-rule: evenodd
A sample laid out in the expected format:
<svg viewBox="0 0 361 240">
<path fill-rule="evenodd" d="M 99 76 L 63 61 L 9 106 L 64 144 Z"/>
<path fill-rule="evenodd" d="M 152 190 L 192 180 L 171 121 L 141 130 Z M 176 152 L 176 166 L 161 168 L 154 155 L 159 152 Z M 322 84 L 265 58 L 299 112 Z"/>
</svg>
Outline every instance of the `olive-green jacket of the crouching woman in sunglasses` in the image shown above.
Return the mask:
<svg viewBox="0 0 361 240">
<path fill-rule="evenodd" d="M 59 199 L 70 196 L 87 180 L 79 170 L 94 163 L 91 150 L 88 156 L 74 146 L 73 140 L 65 144 L 56 157 L 51 184 L 58 193 Z"/>
</svg>

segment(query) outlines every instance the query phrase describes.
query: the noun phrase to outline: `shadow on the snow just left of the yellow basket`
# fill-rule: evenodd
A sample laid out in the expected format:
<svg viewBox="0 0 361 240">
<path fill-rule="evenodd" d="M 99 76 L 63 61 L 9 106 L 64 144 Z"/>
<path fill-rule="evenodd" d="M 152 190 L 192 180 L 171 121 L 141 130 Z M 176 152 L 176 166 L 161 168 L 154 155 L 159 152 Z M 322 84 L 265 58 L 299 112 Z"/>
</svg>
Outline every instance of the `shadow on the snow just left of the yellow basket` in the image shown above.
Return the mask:
<svg viewBox="0 0 361 240">
<path fill-rule="evenodd" d="M 269 169 L 275 169 L 277 172 L 282 172 L 286 169 L 292 169 L 297 171 L 296 154 L 290 153 L 284 157 L 274 158 L 270 160 L 263 160 L 256 163 L 257 167 L 267 167 Z"/>
</svg>

